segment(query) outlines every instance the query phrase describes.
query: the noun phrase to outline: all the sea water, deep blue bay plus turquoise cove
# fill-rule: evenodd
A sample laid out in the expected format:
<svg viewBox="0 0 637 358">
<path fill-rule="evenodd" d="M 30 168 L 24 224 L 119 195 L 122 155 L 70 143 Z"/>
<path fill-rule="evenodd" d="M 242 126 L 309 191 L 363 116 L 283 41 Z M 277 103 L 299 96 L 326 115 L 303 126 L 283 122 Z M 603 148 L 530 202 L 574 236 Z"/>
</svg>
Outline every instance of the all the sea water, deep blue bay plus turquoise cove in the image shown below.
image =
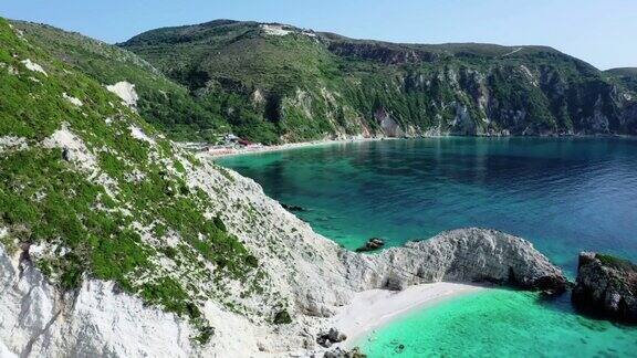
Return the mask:
<svg viewBox="0 0 637 358">
<path fill-rule="evenodd" d="M 372 236 L 400 245 L 484 227 L 532 241 L 571 276 L 583 250 L 637 260 L 634 139 L 386 140 L 220 164 L 274 199 L 305 208 L 296 214 L 348 249 Z M 363 347 L 372 357 L 462 356 L 457 341 L 470 349 L 464 356 L 637 356 L 636 330 L 571 309 L 567 297 L 540 304 L 519 292 L 481 293 L 390 324 Z M 405 350 L 393 350 L 391 341 Z"/>
</svg>

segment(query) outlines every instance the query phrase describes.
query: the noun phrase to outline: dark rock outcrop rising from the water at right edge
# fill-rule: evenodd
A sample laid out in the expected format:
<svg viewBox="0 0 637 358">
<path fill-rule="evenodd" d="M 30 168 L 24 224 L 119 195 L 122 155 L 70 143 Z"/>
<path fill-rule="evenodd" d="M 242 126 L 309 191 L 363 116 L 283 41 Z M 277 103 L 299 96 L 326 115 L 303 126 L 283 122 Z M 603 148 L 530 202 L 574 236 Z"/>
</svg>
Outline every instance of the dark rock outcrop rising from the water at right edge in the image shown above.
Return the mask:
<svg viewBox="0 0 637 358">
<path fill-rule="evenodd" d="M 572 297 L 576 305 L 595 314 L 637 323 L 637 265 L 583 252 Z"/>
</svg>

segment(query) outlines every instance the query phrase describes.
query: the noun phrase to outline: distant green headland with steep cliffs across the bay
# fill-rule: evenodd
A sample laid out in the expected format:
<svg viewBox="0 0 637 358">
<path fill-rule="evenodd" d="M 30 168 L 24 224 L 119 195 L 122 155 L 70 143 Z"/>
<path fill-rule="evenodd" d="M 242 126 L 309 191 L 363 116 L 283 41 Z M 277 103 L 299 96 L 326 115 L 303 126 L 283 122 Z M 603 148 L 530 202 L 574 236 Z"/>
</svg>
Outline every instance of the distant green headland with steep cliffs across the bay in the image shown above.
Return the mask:
<svg viewBox="0 0 637 358">
<path fill-rule="evenodd" d="M 265 141 L 637 134 L 624 84 L 550 48 L 394 44 L 228 20 L 153 30 L 121 46 Z"/>
</svg>

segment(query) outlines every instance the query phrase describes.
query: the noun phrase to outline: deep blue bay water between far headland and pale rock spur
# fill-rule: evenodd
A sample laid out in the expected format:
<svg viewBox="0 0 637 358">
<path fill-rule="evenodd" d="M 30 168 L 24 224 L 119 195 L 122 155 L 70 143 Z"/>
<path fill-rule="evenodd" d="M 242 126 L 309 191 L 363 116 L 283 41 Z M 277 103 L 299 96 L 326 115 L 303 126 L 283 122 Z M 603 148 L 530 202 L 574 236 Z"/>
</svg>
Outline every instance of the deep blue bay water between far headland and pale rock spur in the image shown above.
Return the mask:
<svg viewBox="0 0 637 358">
<path fill-rule="evenodd" d="M 573 275 L 577 253 L 637 260 L 637 140 L 432 138 L 219 160 L 355 249 L 483 227 L 532 241 Z"/>
</svg>

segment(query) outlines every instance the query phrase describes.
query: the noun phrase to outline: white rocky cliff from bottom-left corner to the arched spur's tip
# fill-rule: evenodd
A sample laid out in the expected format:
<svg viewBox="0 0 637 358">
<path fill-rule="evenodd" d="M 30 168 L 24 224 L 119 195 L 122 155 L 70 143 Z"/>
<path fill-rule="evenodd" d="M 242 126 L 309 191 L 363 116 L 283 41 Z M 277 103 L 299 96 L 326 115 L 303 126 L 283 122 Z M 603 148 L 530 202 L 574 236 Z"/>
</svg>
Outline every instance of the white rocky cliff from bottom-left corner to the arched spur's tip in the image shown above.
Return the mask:
<svg viewBox="0 0 637 358">
<path fill-rule="evenodd" d="M 246 193 L 252 197 L 250 190 Z M 259 197 L 252 198 L 271 203 L 262 193 Z M 253 320 L 255 317 L 227 312 L 208 301 L 205 312 L 216 323 L 216 333 L 211 343 L 202 347 L 189 339 L 192 328 L 187 322 L 145 306 L 142 299 L 118 291 L 113 283 L 86 280 L 77 291 L 61 292 L 31 262 L 11 257 L 0 248 L 0 340 L 20 356 L 276 356 L 315 348 L 314 337 L 325 329 L 326 318 L 357 291 L 401 289 L 439 281 L 540 289 L 564 287 L 560 270 L 529 242 L 500 232 L 456 230 L 379 255 L 363 255 L 338 249 L 303 230 L 304 224 L 272 204 L 270 212 L 264 213 L 267 223 L 301 228 L 294 251 L 291 240 L 278 234 L 272 238 L 285 252 L 285 259 L 263 257 L 268 271 L 276 273 L 272 284 L 286 297 L 294 297 L 289 306 L 292 324 L 263 326 Z M 237 218 L 244 220 L 240 214 Z M 249 232 L 241 234 L 252 239 L 253 248 L 261 242 Z M 299 257 L 299 245 L 313 250 L 320 262 Z"/>
</svg>

